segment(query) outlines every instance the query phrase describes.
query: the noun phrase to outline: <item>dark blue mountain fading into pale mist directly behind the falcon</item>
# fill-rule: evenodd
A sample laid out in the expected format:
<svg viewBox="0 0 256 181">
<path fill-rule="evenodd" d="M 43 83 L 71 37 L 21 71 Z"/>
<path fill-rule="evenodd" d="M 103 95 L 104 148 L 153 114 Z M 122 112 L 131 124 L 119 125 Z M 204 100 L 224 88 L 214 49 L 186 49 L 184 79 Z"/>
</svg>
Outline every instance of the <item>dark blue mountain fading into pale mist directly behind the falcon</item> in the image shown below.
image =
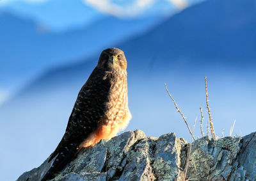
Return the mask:
<svg viewBox="0 0 256 181">
<path fill-rule="evenodd" d="M 45 72 L 1 107 L 0 141 L 9 150 L 2 150 L 0 155 L 10 165 L 4 164 L 0 169 L 15 165 L 18 176 L 39 165 L 54 150 L 79 89 L 97 65 L 101 49 L 110 45 L 123 49 L 128 61 L 132 120 L 127 129 L 141 129 L 150 136 L 172 131 L 189 139 L 164 83 L 191 125 L 200 116 L 199 107 L 205 107 L 204 76 L 207 76 L 216 134 L 220 136 L 223 129 L 229 130 L 234 119 L 235 132 L 238 128 L 243 134 L 255 131 L 252 127 L 252 113 L 256 109 L 255 15 L 254 0 L 206 1 L 174 15 L 143 35 L 123 43 L 100 43 L 90 57 Z M 76 45 L 63 44 L 70 49 Z M 204 115 L 206 118 L 205 109 Z M 200 136 L 199 130 L 196 128 L 196 136 Z M 6 136 L 8 140 L 3 139 Z M 14 146 L 19 147 L 19 153 L 12 153 Z M 36 155 L 35 150 L 42 153 Z M 8 154 L 15 156 L 10 160 Z"/>
</svg>

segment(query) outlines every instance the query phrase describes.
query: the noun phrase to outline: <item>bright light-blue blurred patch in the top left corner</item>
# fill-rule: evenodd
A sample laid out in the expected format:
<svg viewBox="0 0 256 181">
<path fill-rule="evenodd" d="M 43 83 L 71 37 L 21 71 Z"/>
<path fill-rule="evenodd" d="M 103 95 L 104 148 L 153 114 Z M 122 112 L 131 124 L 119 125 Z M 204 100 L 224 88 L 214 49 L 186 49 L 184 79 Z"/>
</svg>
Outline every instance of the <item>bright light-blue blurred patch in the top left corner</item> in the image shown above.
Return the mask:
<svg viewBox="0 0 256 181">
<path fill-rule="evenodd" d="M 104 17 L 84 4 L 83 0 L 0 1 L 0 12 L 44 24 L 51 31 L 67 31 L 84 27 Z"/>
</svg>

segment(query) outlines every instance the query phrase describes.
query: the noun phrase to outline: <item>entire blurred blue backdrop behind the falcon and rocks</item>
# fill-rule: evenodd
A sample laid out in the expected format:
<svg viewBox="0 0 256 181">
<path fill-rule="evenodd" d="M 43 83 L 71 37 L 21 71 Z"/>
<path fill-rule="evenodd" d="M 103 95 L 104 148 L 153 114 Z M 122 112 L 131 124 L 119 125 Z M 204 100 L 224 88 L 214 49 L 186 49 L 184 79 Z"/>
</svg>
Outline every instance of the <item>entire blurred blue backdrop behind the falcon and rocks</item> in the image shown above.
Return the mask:
<svg viewBox="0 0 256 181">
<path fill-rule="evenodd" d="M 256 1 L 0 0 L 0 169 L 15 180 L 42 164 L 65 132 L 77 93 L 108 47 L 125 52 L 126 130 L 191 139 L 200 109 L 216 134 L 255 131 Z M 137 2 L 137 4 L 136 4 Z M 141 2 L 141 4 L 138 4 Z"/>
</svg>

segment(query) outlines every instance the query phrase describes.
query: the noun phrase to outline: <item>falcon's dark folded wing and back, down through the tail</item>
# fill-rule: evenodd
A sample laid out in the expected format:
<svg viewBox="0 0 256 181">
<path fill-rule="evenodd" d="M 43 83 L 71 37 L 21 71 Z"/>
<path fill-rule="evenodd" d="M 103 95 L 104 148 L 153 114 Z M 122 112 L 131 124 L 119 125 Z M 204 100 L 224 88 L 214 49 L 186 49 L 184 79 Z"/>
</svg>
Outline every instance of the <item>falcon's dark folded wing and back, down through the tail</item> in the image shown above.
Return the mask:
<svg viewBox="0 0 256 181">
<path fill-rule="evenodd" d="M 104 102 L 107 102 L 110 88 L 109 79 L 103 80 L 104 76 L 105 72 L 96 67 L 79 91 L 66 132 L 48 162 L 58 156 L 42 181 L 54 177 L 53 173 L 60 171 L 77 152 L 79 144 L 97 129 L 100 118 L 106 112 Z"/>
</svg>

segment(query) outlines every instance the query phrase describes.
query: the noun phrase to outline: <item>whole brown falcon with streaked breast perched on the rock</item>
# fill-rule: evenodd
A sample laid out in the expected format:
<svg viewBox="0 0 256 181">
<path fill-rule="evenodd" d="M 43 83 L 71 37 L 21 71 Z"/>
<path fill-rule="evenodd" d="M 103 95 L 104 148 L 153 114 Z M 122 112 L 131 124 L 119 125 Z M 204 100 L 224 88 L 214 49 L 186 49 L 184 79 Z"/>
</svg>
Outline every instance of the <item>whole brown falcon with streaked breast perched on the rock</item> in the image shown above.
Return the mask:
<svg viewBox="0 0 256 181">
<path fill-rule="evenodd" d="M 100 139 L 111 139 L 131 120 L 127 96 L 127 61 L 124 52 L 110 48 L 102 51 L 97 67 L 79 91 L 68 120 L 66 132 L 42 181 L 54 177 L 83 147 Z"/>
</svg>

